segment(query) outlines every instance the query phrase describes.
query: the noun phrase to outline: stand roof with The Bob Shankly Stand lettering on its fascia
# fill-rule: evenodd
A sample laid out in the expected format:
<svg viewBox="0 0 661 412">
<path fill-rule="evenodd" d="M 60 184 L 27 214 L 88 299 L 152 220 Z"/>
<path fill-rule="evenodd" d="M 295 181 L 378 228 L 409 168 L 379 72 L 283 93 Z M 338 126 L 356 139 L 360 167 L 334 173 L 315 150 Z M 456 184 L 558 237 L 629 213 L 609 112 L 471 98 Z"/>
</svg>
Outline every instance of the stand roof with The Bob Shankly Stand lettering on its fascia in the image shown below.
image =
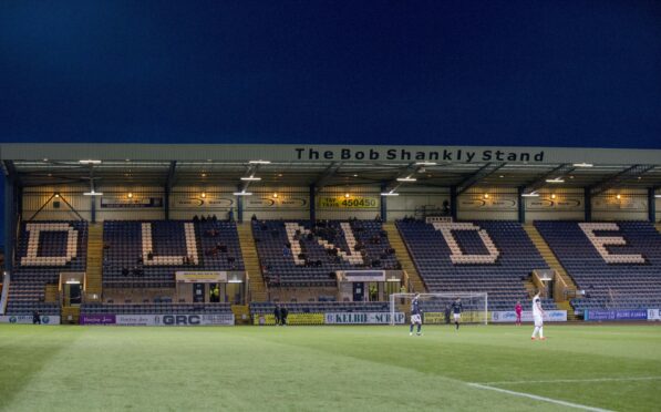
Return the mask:
<svg viewBox="0 0 661 412">
<path fill-rule="evenodd" d="M 389 187 L 661 187 L 661 151 L 559 147 L 0 144 L 23 186 L 89 182 Z M 415 182 L 397 182 L 397 178 Z M 547 183 L 554 181 L 556 183 Z M 564 182 L 560 182 L 564 181 Z"/>
</svg>

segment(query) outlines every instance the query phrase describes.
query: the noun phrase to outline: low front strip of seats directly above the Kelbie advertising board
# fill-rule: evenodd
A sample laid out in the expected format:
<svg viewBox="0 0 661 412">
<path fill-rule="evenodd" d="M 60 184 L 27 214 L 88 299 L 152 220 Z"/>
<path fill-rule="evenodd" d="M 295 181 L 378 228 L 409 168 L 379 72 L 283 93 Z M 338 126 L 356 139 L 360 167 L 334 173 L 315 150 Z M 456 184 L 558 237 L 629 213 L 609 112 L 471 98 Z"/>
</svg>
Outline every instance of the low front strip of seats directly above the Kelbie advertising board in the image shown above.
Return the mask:
<svg viewBox="0 0 661 412">
<path fill-rule="evenodd" d="M 326 312 L 389 312 L 389 302 L 282 302 L 289 313 L 326 313 Z M 270 315 L 276 302 L 251 302 L 252 315 Z"/>
</svg>

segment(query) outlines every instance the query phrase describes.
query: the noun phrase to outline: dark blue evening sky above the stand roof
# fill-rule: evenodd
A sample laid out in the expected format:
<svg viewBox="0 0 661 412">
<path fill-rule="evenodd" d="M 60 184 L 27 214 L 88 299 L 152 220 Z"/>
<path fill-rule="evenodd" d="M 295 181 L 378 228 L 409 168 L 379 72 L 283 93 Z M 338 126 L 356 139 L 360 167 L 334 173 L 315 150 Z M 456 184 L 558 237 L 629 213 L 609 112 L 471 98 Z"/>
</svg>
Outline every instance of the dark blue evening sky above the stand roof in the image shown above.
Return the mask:
<svg viewBox="0 0 661 412">
<path fill-rule="evenodd" d="M 659 1 L 2 1 L 3 142 L 661 147 Z"/>
</svg>

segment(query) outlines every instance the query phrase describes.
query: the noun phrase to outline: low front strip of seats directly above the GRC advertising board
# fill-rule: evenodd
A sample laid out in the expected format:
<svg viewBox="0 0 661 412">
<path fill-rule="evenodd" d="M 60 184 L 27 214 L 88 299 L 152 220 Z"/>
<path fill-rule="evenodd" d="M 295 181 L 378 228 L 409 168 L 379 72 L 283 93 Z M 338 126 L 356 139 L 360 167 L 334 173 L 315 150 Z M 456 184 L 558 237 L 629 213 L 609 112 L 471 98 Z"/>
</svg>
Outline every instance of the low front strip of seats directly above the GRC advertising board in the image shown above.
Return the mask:
<svg viewBox="0 0 661 412">
<path fill-rule="evenodd" d="M 83 303 L 81 315 L 231 313 L 230 303 Z"/>
</svg>

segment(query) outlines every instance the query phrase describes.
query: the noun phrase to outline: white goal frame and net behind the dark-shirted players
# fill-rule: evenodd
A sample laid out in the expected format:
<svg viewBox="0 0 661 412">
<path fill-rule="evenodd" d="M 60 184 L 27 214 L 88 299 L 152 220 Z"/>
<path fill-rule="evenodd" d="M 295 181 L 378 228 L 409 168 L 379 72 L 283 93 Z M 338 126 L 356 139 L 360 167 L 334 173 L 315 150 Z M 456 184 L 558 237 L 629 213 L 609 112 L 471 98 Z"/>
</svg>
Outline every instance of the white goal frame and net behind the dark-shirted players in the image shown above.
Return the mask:
<svg viewBox="0 0 661 412">
<path fill-rule="evenodd" d="M 392 293 L 390 296 L 390 325 L 395 325 L 395 313 L 404 312 L 404 323 L 411 321 L 411 300 L 420 295 L 420 309 L 424 325 L 446 322 L 445 308 L 457 298 L 462 299 L 462 323 L 488 323 L 488 293 L 486 292 L 436 292 L 436 293 Z M 450 315 L 452 320 L 452 312 Z"/>
</svg>

